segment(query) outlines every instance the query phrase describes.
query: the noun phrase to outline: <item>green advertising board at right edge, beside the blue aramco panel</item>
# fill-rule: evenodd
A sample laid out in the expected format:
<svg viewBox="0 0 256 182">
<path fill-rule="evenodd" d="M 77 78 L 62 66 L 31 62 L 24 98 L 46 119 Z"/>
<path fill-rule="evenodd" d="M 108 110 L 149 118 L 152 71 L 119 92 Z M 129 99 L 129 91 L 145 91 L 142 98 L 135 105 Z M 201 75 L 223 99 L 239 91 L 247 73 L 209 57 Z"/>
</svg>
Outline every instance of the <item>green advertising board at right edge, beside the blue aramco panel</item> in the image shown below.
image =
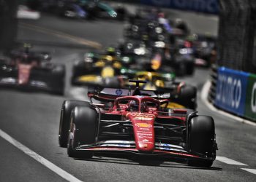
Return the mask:
<svg viewBox="0 0 256 182">
<path fill-rule="evenodd" d="M 244 116 L 246 118 L 256 121 L 256 75 L 255 74 L 250 74 L 248 77 Z"/>
</svg>

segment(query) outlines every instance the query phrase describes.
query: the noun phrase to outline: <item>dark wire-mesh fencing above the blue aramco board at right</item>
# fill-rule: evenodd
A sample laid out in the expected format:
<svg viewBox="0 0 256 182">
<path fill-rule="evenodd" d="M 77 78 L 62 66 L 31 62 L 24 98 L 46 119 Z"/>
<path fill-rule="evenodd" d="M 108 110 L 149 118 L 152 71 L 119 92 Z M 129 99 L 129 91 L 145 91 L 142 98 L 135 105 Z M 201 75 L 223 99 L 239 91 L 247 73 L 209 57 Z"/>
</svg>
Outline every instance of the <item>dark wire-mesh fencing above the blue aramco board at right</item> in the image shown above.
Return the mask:
<svg viewBox="0 0 256 182">
<path fill-rule="evenodd" d="M 217 65 L 256 74 L 256 1 L 219 0 Z"/>
</svg>

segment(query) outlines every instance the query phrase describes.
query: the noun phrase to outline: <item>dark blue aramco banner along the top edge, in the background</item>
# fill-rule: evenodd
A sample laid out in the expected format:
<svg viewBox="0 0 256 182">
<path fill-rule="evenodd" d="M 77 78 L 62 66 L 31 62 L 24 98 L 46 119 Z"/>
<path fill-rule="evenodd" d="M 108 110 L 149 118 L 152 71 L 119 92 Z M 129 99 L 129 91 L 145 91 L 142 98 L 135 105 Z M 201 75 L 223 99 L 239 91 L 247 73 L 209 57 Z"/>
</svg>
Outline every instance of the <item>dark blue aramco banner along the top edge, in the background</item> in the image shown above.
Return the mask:
<svg viewBox="0 0 256 182">
<path fill-rule="evenodd" d="M 140 2 L 155 7 L 167 7 L 211 14 L 218 14 L 219 12 L 219 0 L 140 0 Z"/>
</svg>

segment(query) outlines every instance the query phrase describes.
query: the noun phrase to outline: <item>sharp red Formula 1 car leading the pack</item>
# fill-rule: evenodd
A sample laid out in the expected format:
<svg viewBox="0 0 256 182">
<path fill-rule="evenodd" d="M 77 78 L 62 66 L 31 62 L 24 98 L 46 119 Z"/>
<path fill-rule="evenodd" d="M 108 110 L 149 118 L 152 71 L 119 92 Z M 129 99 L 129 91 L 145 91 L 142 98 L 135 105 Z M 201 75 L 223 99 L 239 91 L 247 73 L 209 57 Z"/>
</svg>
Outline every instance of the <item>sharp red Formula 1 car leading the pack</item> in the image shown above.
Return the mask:
<svg viewBox="0 0 256 182">
<path fill-rule="evenodd" d="M 137 85 L 143 81 L 133 81 Z M 115 94 L 111 94 L 113 92 Z M 59 145 L 69 157 L 125 153 L 187 159 L 188 165 L 211 167 L 216 157 L 214 119 L 189 109 L 167 108 L 168 100 L 148 90 L 106 89 L 89 92 L 90 100 L 65 100 Z M 122 96 L 127 95 L 127 96 Z"/>
</svg>

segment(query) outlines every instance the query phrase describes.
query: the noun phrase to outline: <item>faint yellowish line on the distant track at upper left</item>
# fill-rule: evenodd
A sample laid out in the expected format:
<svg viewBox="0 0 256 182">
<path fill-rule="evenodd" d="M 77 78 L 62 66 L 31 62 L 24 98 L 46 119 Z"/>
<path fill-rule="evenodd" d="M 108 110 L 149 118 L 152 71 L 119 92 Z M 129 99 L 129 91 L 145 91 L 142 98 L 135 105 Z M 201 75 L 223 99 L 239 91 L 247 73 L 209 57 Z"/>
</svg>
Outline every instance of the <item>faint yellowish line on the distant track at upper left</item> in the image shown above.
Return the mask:
<svg viewBox="0 0 256 182">
<path fill-rule="evenodd" d="M 68 33 L 64 33 L 64 32 L 61 32 L 61 31 L 53 31 L 53 30 L 48 29 L 48 28 L 43 28 L 43 27 L 40 27 L 40 26 L 28 24 L 28 23 L 19 23 L 19 25 L 23 28 L 28 28 L 32 31 L 39 31 L 41 33 L 48 33 L 48 34 L 53 35 L 53 36 L 58 36 L 58 37 L 61 37 L 61 38 L 64 38 L 64 39 L 68 39 L 69 41 L 75 41 L 79 44 L 83 44 L 83 45 L 86 45 L 86 46 L 89 46 L 89 47 L 94 47 L 96 49 L 101 49 L 102 48 L 102 44 L 99 44 L 96 41 L 89 41 L 89 40 L 80 38 L 78 36 L 72 36 Z"/>
</svg>

